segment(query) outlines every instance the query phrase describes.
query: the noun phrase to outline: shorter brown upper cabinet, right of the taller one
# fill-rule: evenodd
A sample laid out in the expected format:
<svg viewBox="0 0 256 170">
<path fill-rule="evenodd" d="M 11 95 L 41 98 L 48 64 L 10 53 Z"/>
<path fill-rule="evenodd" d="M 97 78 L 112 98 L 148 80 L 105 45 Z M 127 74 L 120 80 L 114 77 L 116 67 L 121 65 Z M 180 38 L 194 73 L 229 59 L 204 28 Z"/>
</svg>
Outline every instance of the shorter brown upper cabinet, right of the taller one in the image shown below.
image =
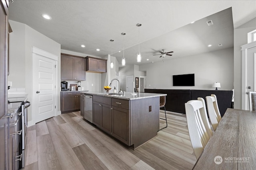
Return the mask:
<svg viewBox="0 0 256 170">
<path fill-rule="evenodd" d="M 86 58 L 86 71 L 88 72 L 107 72 L 107 60 L 99 59 L 95 57 L 85 57 Z"/>
</svg>

